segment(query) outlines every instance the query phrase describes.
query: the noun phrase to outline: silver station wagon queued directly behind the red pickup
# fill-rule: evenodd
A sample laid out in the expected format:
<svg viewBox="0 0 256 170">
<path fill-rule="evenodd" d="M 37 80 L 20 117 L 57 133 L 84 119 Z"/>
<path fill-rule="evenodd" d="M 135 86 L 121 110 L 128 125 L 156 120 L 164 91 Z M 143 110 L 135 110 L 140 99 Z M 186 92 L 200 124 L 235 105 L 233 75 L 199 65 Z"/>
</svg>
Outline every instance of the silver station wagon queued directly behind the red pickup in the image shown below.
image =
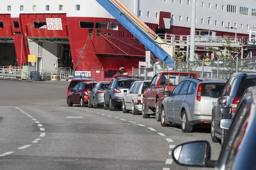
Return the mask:
<svg viewBox="0 0 256 170">
<path fill-rule="evenodd" d="M 227 80 L 188 78 L 180 82 L 163 100 L 161 125 L 181 124 L 183 132 L 192 132 L 196 125 L 210 125 L 212 106 L 218 99 L 211 98 L 209 92 L 215 89 L 221 93 Z"/>
</svg>

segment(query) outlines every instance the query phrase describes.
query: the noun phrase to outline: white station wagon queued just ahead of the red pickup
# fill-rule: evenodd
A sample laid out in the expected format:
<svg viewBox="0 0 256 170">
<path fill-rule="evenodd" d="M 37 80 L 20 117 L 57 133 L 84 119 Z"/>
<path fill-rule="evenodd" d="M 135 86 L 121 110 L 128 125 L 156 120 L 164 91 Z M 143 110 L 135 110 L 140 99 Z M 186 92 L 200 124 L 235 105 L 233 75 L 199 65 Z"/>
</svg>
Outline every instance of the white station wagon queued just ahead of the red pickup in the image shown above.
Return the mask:
<svg viewBox="0 0 256 170">
<path fill-rule="evenodd" d="M 129 113 L 132 111 L 133 115 L 138 115 L 142 111 L 142 100 L 141 96 L 144 93 L 145 89 L 150 84 L 151 80 L 146 81 L 135 81 L 125 94 L 122 111 L 123 113 Z"/>
</svg>

